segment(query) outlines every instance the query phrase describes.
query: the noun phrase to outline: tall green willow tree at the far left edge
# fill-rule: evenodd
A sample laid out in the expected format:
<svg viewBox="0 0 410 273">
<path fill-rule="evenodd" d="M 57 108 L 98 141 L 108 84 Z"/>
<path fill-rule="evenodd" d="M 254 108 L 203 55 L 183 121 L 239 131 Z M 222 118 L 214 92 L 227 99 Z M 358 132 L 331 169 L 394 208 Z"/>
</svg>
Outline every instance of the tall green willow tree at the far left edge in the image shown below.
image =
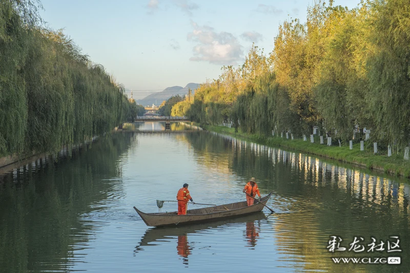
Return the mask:
<svg viewBox="0 0 410 273">
<path fill-rule="evenodd" d="M 38 21 L 32 1 L 0 1 L 0 156 L 23 153 L 27 95 L 21 69 Z"/>
</svg>

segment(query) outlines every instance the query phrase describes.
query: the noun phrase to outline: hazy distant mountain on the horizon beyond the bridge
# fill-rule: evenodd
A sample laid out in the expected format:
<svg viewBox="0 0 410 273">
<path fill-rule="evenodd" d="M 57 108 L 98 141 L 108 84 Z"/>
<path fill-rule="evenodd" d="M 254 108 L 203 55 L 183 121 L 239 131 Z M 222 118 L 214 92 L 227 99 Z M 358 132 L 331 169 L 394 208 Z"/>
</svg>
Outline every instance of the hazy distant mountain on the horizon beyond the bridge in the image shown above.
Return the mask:
<svg viewBox="0 0 410 273">
<path fill-rule="evenodd" d="M 199 87 L 199 84 L 193 83 L 193 82 L 188 83 L 186 87 L 181 87 L 181 86 L 167 87 L 161 92 L 153 93 L 151 95 L 146 96 L 143 99 L 138 99 L 137 103 L 142 106 L 152 106 L 152 104 L 159 106 L 159 104 L 161 104 L 162 101 L 169 99 L 173 95 L 185 96 L 186 94 L 188 94 L 189 88 L 191 88 L 192 94 L 194 94 L 195 90 L 198 87 Z"/>
</svg>

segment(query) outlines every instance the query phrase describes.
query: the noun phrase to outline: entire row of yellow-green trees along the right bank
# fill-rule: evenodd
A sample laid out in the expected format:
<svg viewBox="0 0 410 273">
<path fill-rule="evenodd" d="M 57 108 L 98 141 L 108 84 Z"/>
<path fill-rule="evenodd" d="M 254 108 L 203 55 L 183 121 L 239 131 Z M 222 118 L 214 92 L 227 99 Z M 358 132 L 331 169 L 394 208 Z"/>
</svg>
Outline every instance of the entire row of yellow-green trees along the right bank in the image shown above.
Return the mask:
<svg viewBox="0 0 410 273">
<path fill-rule="evenodd" d="M 283 22 L 269 57 L 253 45 L 242 66 L 224 66 L 183 112 L 264 136 L 301 137 L 318 126 L 321 134 L 337 130 L 336 143 L 365 127 L 381 150 L 396 143 L 403 151 L 410 143 L 409 22 L 407 0 L 362 1 L 352 10 L 315 2 L 306 23 Z"/>
</svg>

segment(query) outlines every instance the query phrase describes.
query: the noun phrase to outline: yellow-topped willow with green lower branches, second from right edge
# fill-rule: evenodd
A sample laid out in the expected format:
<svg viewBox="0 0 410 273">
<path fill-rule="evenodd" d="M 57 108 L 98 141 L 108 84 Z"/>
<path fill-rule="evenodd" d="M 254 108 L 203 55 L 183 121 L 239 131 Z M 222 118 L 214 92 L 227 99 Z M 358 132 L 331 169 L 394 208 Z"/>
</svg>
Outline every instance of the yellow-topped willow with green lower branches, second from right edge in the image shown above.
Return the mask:
<svg viewBox="0 0 410 273">
<path fill-rule="evenodd" d="M 358 111 L 349 94 L 358 82 L 354 53 L 358 48 L 357 14 L 343 7 L 328 8 L 323 37 L 324 53 L 314 87 L 316 107 L 327 131 L 337 129 L 342 139 L 351 139 Z M 352 85 L 353 83 L 353 85 Z M 354 97 L 354 96 L 353 96 Z M 360 108 L 359 108 L 360 109 Z"/>
</svg>

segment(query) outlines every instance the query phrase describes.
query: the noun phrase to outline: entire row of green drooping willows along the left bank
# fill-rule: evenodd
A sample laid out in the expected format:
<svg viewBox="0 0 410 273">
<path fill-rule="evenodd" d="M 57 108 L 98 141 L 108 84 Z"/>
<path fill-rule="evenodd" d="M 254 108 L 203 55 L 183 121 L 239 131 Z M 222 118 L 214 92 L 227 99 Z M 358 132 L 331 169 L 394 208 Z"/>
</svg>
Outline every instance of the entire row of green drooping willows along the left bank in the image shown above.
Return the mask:
<svg viewBox="0 0 410 273">
<path fill-rule="evenodd" d="M 61 31 L 35 26 L 32 1 L 0 6 L 0 155 L 55 152 L 112 130 L 130 103 Z"/>
</svg>

